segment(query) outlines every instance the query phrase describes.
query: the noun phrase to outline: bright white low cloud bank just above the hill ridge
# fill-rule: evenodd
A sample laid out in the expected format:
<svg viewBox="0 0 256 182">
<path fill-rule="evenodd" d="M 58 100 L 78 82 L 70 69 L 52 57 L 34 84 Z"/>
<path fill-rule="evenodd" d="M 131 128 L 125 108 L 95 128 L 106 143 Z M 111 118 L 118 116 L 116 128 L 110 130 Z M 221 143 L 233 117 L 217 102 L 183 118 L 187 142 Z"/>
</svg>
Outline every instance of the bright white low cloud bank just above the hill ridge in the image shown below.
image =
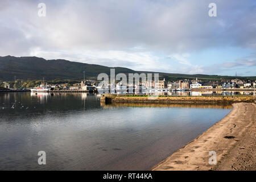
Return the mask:
<svg viewBox="0 0 256 182">
<path fill-rule="evenodd" d="M 161 64 L 160 57 L 152 55 L 150 52 L 127 52 L 127 51 L 102 51 L 72 49 L 72 53 L 66 51 L 43 51 L 40 47 L 30 49 L 30 56 L 62 57 L 66 60 L 79 61 L 81 63 L 98 64 L 99 62 L 109 67 L 127 67 L 137 71 L 160 71 L 167 68 Z M 76 57 L 76 59 L 73 59 Z"/>
</svg>

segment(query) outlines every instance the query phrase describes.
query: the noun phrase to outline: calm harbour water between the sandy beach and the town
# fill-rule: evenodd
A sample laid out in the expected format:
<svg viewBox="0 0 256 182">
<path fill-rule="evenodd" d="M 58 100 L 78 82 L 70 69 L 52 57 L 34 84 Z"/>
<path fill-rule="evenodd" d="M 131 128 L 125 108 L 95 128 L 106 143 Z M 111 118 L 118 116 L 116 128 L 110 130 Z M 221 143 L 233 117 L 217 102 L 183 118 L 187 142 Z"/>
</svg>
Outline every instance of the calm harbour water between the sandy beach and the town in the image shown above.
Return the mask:
<svg viewBox="0 0 256 182">
<path fill-rule="evenodd" d="M 230 106 L 101 105 L 86 93 L 1 93 L 0 169 L 150 169 Z M 46 165 L 38 164 L 46 151 Z"/>
</svg>

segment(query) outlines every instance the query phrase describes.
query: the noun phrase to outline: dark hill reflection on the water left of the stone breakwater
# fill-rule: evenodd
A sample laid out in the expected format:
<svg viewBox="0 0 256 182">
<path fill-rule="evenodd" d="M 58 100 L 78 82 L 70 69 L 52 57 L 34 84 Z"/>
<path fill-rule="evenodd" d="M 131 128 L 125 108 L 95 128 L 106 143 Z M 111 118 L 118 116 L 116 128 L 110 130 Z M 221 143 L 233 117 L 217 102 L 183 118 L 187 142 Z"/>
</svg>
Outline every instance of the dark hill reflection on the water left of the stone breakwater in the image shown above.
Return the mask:
<svg viewBox="0 0 256 182">
<path fill-rule="evenodd" d="M 90 96 L 90 97 L 88 97 Z M 0 95 L 0 110 L 47 112 L 100 108 L 100 97 L 90 93 L 5 93 Z"/>
</svg>

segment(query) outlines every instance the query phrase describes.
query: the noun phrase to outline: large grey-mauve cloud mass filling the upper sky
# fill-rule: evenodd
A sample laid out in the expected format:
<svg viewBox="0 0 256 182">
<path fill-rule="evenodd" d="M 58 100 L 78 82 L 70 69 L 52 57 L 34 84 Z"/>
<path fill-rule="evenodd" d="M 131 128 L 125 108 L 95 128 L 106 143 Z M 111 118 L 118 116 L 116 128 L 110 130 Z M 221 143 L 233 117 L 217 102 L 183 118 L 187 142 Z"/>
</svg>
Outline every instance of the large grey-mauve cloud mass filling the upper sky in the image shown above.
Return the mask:
<svg viewBox="0 0 256 182">
<path fill-rule="evenodd" d="M 230 44 L 254 47 L 256 42 L 251 1 L 216 1 L 221 18 L 210 18 L 210 1 L 203 0 L 58 2 L 45 1 L 45 18 L 38 17 L 36 1 L 8 3 L 1 22 L 27 34 L 28 42 L 40 41 L 42 48 L 142 46 L 176 53 Z"/>
</svg>

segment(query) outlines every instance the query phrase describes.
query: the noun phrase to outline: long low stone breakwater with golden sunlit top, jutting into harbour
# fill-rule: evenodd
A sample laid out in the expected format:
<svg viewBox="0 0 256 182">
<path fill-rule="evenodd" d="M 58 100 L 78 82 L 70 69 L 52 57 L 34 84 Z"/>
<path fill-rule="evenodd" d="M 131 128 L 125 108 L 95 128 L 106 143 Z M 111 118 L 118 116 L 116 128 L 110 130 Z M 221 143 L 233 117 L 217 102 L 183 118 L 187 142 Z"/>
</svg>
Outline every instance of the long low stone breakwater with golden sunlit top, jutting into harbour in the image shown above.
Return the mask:
<svg viewBox="0 0 256 182">
<path fill-rule="evenodd" d="M 255 102 L 255 96 L 139 96 L 104 94 L 101 102 L 148 103 L 148 104 L 232 104 L 235 102 Z"/>
</svg>

